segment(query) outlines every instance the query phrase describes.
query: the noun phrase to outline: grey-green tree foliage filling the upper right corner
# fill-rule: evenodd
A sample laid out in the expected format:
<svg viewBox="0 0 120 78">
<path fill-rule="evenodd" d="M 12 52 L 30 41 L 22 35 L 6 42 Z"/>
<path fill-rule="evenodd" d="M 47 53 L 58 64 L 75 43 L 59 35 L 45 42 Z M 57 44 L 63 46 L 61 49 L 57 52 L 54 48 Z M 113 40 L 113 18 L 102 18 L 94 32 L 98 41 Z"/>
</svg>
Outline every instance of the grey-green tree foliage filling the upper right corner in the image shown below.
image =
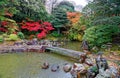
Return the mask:
<svg viewBox="0 0 120 78">
<path fill-rule="evenodd" d="M 94 22 L 105 17 L 119 16 L 119 6 L 119 0 L 93 0 L 85 6 L 82 12 Z"/>
</svg>

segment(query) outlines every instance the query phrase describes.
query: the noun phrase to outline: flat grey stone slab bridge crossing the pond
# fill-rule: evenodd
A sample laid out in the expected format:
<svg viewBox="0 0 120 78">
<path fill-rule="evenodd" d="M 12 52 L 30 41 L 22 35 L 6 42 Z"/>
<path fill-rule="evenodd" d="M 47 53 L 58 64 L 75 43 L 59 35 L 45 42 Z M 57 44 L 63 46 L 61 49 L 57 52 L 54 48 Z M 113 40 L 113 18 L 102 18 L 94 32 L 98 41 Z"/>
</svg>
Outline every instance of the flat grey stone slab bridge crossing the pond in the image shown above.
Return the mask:
<svg viewBox="0 0 120 78">
<path fill-rule="evenodd" d="M 64 56 L 73 57 L 76 59 L 80 59 L 80 56 L 84 54 L 83 52 L 80 52 L 80 51 L 75 51 L 75 50 L 70 50 L 70 49 L 65 49 L 60 47 L 47 47 L 46 50 L 49 50 L 50 52 L 61 54 Z"/>
</svg>

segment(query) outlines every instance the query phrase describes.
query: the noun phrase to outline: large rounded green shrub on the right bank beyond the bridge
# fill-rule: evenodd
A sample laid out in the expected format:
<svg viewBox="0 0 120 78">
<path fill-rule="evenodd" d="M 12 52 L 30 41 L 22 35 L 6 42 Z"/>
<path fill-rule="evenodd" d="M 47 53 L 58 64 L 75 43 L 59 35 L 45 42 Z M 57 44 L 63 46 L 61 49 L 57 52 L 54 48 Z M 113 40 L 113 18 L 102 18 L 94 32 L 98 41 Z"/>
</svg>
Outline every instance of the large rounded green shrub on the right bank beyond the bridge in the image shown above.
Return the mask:
<svg viewBox="0 0 120 78">
<path fill-rule="evenodd" d="M 87 40 L 89 42 L 90 48 L 94 46 L 101 47 L 101 45 L 111 42 L 112 35 L 115 35 L 117 33 L 119 33 L 118 26 L 92 26 L 85 31 L 83 40 Z"/>
</svg>

